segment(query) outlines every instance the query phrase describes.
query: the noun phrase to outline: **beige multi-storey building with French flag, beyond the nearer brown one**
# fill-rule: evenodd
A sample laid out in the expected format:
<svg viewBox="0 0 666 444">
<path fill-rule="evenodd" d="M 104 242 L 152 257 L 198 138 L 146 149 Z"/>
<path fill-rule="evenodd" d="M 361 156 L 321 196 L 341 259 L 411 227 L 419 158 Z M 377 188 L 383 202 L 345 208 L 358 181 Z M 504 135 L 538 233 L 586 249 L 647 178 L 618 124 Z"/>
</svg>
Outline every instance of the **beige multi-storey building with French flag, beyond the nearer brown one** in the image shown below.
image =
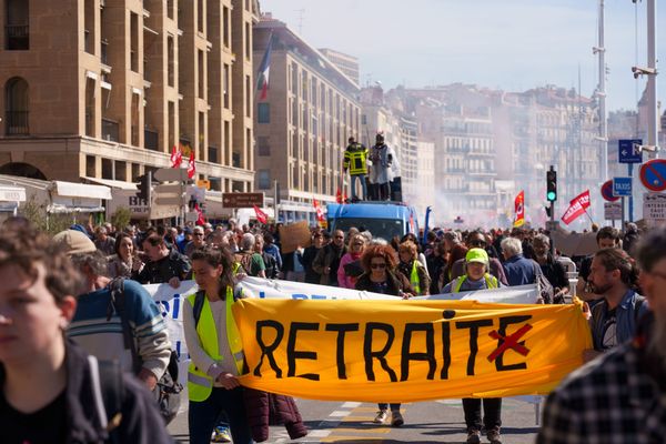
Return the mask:
<svg viewBox="0 0 666 444">
<path fill-rule="evenodd" d="M 333 202 L 347 139 L 359 138 L 359 87 L 285 23 L 254 27 L 254 71 L 273 39 L 270 87 L 254 98 L 256 189 L 280 188 L 280 219 L 314 219 L 312 200 Z"/>
</svg>

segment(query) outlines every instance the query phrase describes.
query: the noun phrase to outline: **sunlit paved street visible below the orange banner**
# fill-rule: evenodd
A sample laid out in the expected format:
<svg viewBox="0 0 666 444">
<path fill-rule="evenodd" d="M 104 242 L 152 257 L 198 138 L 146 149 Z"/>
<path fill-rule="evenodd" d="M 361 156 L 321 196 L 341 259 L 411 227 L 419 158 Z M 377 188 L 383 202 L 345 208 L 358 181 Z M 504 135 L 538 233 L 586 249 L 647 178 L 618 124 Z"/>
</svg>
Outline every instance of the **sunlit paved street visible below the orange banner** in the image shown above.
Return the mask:
<svg viewBox="0 0 666 444">
<path fill-rule="evenodd" d="M 297 400 L 307 437 L 292 441 L 284 427 L 271 427 L 269 443 L 464 443 L 466 440 L 463 406 L 460 400 L 403 404 L 405 425 L 400 428 L 376 425 L 372 420 L 376 405 L 354 402 Z M 502 406 L 503 442 L 533 443 L 537 425 L 534 404 L 516 398 L 504 400 Z M 186 413 L 169 427 L 181 443 L 188 443 Z M 486 441 L 482 441 L 486 442 Z"/>
</svg>

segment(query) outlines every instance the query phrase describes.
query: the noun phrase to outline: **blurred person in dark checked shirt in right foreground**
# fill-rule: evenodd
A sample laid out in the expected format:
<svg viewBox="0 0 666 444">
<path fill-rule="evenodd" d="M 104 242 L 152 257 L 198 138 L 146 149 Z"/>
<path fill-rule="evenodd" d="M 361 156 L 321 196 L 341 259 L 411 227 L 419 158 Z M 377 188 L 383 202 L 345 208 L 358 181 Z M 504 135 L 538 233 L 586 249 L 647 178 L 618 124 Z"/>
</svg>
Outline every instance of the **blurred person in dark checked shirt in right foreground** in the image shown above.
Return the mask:
<svg viewBox="0 0 666 444">
<path fill-rule="evenodd" d="M 652 313 L 632 342 L 578 369 L 548 395 L 537 444 L 664 442 L 666 230 L 647 234 L 636 258 Z"/>
</svg>

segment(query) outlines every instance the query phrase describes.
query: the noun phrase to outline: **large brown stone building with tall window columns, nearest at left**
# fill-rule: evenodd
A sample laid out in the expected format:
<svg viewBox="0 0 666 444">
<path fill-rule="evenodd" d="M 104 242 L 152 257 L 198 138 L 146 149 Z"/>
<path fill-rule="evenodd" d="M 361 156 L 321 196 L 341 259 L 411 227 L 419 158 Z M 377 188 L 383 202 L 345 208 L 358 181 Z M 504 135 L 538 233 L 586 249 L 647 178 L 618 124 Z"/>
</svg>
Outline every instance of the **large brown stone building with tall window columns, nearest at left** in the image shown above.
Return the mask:
<svg viewBox="0 0 666 444">
<path fill-rule="evenodd" d="M 135 182 L 180 145 L 212 190 L 251 191 L 258 19 L 256 0 L 0 0 L 0 173 Z"/>
</svg>

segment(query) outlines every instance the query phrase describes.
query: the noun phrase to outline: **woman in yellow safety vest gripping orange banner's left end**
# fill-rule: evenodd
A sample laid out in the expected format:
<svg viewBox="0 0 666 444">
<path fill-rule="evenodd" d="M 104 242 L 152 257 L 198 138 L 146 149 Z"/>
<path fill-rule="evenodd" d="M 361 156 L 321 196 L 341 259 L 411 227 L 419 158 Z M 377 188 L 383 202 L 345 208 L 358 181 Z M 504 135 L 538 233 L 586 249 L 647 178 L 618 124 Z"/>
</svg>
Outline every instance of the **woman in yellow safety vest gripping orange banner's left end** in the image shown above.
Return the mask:
<svg viewBox="0 0 666 444">
<path fill-rule="evenodd" d="M 208 444 L 224 413 L 235 444 L 251 444 L 245 415 L 241 336 L 231 307 L 233 259 L 226 249 L 204 248 L 192 253 L 200 291 L 183 303 L 183 330 L 192 357 L 188 369 L 190 443 Z"/>
</svg>

